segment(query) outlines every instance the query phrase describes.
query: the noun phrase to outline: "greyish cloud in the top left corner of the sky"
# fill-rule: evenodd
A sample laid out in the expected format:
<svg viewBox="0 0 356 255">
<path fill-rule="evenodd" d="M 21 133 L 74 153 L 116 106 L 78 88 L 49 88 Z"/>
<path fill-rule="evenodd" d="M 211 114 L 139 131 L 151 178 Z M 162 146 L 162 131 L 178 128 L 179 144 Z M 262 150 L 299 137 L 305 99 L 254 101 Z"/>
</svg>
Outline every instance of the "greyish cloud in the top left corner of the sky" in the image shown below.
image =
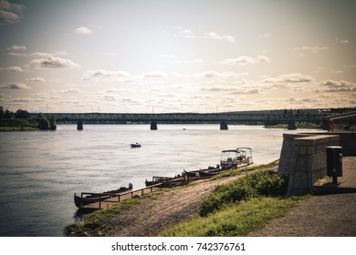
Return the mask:
<svg viewBox="0 0 356 255">
<path fill-rule="evenodd" d="M 0 1 L 0 21 L 7 24 L 16 24 L 21 21 L 25 5 L 11 4 L 8 1 Z"/>
</svg>

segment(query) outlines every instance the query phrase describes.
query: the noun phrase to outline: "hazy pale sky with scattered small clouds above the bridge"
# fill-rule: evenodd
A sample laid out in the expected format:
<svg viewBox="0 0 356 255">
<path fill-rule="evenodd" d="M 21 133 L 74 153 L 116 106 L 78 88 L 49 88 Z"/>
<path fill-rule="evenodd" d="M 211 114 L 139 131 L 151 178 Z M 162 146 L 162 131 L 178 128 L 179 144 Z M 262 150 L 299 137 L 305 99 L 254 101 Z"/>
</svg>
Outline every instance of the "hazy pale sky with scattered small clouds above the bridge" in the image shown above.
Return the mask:
<svg viewBox="0 0 356 255">
<path fill-rule="evenodd" d="M 0 106 L 356 106 L 354 0 L 0 0 Z"/>
</svg>

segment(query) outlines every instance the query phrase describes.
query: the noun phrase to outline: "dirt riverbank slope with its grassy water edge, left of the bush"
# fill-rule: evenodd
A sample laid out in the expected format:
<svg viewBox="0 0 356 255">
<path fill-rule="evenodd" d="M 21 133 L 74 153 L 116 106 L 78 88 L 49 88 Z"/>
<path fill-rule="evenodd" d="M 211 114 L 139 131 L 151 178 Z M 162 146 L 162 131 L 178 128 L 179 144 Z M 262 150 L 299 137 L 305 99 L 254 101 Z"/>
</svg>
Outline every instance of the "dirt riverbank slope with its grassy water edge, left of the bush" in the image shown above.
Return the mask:
<svg viewBox="0 0 356 255">
<path fill-rule="evenodd" d="M 225 174 L 225 177 L 219 179 L 197 181 L 177 189 L 165 189 L 162 193 L 153 193 L 139 200 L 131 199 L 134 201 L 131 201 L 131 204 L 126 204 L 124 201 L 110 209 L 102 209 L 88 215 L 84 221 L 68 226 L 65 232 L 68 236 L 167 235 L 162 231 L 198 217 L 199 206 L 217 186 L 241 179 L 246 174 L 267 170 L 276 171 L 277 162 L 233 170 L 229 175 Z M 255 200 L 255 202 L 257 202 L 257 207 L 260 207 L 258 204 L 266 203 L 263 200 L 259 202 Z M 298 203 L 298 200 L 295 202 Z M 290 203 L 288 207 L 294 204 Z M 284 210 L 282 214 L 287 212 L 288 208 Z M 277 215 L 280 216 L 280 212 Z M 263 219 L 263 222 L 266 220 Z"/>
</svg>

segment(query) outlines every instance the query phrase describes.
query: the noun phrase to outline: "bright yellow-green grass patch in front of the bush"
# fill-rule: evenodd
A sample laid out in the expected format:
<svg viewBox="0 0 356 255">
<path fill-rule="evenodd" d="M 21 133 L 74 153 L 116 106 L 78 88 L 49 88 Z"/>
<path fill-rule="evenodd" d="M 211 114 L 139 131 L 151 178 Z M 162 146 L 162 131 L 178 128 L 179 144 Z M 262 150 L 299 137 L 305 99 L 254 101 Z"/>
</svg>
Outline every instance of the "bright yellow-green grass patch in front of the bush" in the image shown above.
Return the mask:
<svg viewBox="0 0 356 255">
<path fill-rule="evenodd" d="M 163 230 L 163 237 L 233 237 L 246 236 L 252 230 L 262 228 L 268 220 L 282 217 L 295 207 L 300 199 L 260 197 L 225 205 L 206 217 L 195 216 L 171 228 Z"/>
</svg>

